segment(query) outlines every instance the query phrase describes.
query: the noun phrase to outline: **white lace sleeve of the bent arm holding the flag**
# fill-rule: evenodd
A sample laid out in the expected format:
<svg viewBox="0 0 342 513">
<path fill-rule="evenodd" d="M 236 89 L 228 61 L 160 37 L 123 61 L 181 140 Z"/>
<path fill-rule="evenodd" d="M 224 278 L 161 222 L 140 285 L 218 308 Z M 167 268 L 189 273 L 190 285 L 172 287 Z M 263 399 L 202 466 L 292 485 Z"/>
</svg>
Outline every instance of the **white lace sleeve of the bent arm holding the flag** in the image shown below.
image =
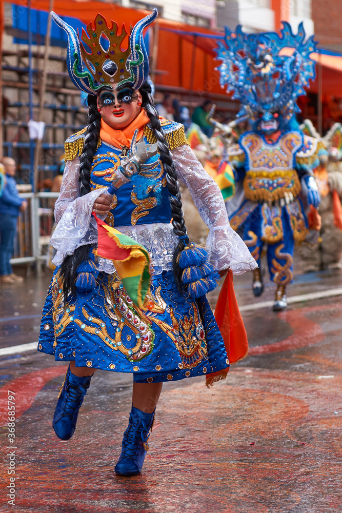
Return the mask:
<svg viewBox="0 0 342 513">
<path fill-rule="evenodd" d="M 61 193 L 55 204 L 55 220 L 58 224 L 50 240 L 51 246 L 57 249 L 53 259 L 55 265 L 62 264 L 66 255 L 73 254 L 79 246 L 97 243 L 96 221 L 91 212 L 96 198 L 106 189 L 96 189 L 80 196 L 78 167 L 78 157 L 67 161 Z"/>
</svg>

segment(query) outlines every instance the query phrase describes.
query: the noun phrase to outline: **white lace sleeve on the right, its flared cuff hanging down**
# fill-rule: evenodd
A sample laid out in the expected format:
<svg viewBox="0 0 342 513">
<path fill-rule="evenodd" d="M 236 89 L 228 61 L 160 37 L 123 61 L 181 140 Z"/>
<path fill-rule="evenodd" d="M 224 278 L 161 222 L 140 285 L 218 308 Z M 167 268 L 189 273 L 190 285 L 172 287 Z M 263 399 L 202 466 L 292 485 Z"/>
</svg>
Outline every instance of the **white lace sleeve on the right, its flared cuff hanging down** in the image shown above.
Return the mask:
<svg viewBox="0 0 342 513">
<path fill-rule="evenodd" d="M 179 181 L 190 190 L 199 215 L 209 228 L 207 249 L 217 270 L 229 267 L 242 274 L 257 267 L 246 244 L 231 228 L 225 202 L 217 184 L 196 159 L 191 148 L 182 145 L 172 151 Z"/>
</svg>

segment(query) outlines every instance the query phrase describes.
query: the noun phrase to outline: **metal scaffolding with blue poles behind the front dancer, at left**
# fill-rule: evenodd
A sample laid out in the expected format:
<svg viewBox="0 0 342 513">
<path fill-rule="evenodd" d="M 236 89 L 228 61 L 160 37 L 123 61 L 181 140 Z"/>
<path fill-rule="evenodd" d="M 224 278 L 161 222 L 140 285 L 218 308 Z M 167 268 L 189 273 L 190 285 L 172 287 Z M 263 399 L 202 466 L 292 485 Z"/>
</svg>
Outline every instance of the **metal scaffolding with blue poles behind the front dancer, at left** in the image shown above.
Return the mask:
<svg viewBox="0 0 342 513">
<path fill-rule="evenodd" d="M 28 29 L 30 13 L 29 3 Z M 12 35 L 13 29 L 7 26 L 5 32 Z M 2 151 L 14 158 L 19 181 L 33 191 L 45 189 L 44 180 L 53 178 L 65 139 L 86 125 L 86 109 L 67 73 L 65 49 L 51 48 L 48 27 L 46 32 L 47 45 L 34 46 L 28 30 L 28 45 L 2 47 Z M 29 120 L 45 123 L 38 152 L 37 139 L 30 139 Z"/>
</svg>

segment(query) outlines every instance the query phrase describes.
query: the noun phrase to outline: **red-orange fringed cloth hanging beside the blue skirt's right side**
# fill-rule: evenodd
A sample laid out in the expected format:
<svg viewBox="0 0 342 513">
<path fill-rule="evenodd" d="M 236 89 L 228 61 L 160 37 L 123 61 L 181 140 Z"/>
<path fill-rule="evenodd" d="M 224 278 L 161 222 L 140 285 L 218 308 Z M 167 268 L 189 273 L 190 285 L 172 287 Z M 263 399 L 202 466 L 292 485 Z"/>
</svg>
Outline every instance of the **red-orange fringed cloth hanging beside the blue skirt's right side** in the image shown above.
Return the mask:
<svg viewBox="0 0 342 513">
<path fill-rule="evenodd" d="M 247 333 L 236 301 L 231 269 L 227 272 L 225 282 L 218 296 L 215 320 L 225 342 L 229 362 L 235 363 L 247 356 Z M 206 385 L 209 387 L 216 381 L 225 379 L 228 371 L 229 367 L 207 374 Z"/>
</svg>

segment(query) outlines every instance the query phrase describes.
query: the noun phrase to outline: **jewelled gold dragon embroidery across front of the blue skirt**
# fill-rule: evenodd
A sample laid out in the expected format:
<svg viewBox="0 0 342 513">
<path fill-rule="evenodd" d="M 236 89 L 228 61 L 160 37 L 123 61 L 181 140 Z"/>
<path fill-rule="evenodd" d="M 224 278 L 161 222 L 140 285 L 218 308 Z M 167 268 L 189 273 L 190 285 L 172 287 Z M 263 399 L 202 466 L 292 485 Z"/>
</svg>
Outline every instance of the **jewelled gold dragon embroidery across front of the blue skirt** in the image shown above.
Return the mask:
<svg viewBox="0 0 342 513">
<path fill-rule="evenodd" d="M 116 273 L 110 275 L 107 284 L 101 283 L 98 284 L 98 287 L 104 291 L 106 314 L 116 325 L 114 337 L 108 333 L 106 322 L 90 315 L 85 307 L 82 308 L 85 321 L 96 324 L 96 327 L 79 319 L 75 319 L 75 323 L 85 332 L 99 337 L 114 351 L 118 350 L 123 353 L 130 362 L 139 362 L 152 352 L 155 338 L 153 324 L 158 326 L 175 344 L 182 360 L 182 363 L 178 365 L 180 369 L 191 369 L 198 365 L 203 358 L 207 358 L 205 329 L 200 322 L 196 303 L 190 305 L 194 315 L 185 315 L 179 321 L 174 310 L 170 308 L 172 321 L 172 325 L 170 325 L 153 316 L 153 314 L 163 314 L 167 308 L 166 302 L 162 298 L 161 286 L 158 286 L 154 293 L 151 291 L 147 293 L 142 309 L 133 304 Z M 133 332 L 132 335 L 126 335 L 126 340 L 131 341 L 132 336 L 136 338 L 136 344 L 131 348 L 126 347 L 123 340 L 122 332 L 125 326 Z"/>
</svg>

